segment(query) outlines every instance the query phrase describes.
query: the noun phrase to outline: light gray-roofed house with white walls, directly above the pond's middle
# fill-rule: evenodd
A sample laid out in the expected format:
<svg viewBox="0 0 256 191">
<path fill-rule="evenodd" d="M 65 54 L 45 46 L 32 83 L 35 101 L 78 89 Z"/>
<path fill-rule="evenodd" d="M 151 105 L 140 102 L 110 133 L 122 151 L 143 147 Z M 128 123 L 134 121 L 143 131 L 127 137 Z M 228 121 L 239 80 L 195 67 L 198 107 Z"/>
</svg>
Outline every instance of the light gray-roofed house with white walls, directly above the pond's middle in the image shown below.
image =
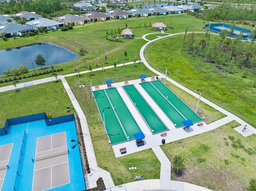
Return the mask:
<svg viewBox="0 0 256 191">
<path fill-rule="evenodd" d="M 57 28 L 63 27 L 64 24 L 57 21 L 50 20 L 50 19 L 40 18 L 40 19 L 36 19 L 36 20 L 25 23 L 25 26 L 33 29 L 39 29 L 39 27 L 43 26 L 48 30 L 52 30 L 52 29 L 56 30 Z"/>
</svg>

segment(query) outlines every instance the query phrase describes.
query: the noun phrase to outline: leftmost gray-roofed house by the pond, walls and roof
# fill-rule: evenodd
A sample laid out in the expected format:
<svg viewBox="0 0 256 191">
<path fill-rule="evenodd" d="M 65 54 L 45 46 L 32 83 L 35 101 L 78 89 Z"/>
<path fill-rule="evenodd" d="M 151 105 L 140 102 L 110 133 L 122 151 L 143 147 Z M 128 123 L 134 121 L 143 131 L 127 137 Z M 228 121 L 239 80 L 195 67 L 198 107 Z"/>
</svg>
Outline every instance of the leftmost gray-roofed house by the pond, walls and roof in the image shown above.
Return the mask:
<svg viewBox="0 0 256 191">
<path fill-rule="evenodd" d="M 5 37 L 12 37 L 15 33 L 16 35 L 22 35 L 25 32 L 34 32 L 34 29 L 26 27 L 21 24 L 7 22 L 0 25 L 0 33 L 6 33 Z"/>
</svg>

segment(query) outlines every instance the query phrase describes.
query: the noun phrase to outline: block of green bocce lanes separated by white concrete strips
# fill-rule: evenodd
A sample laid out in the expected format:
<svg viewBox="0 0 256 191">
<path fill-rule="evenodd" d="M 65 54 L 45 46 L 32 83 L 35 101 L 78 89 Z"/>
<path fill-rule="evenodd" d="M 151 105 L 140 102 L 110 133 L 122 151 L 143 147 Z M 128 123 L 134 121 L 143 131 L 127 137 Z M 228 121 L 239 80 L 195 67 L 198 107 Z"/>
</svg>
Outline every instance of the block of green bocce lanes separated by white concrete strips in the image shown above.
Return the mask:
<svg viewBox="0 0 256 191">
<path fill-rule="evenodd" d="M 105 134 L 111 145 L 134 140 L 134 134 L 162 134 L 202 122 L 191 108 L 155 77 L 92 87 Z"/>
</svg>

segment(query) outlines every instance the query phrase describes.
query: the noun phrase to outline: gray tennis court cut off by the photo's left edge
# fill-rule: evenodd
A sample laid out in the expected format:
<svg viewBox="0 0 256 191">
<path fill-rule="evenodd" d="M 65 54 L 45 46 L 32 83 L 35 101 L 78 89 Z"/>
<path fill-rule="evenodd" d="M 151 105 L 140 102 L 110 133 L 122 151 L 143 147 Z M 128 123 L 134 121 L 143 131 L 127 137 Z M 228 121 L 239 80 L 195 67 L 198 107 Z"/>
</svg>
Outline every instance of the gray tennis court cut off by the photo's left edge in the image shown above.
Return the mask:
<svg viewBox="0 0 256 191">
<path fill-rule="evenodd" d="M 2 185 L 4 182 L 4 177 L 8 169 L 8 163 L 12 151 L 13 144 L 7 144 L 0 146 L 0 190 L 2 190 Z"/>
</svg>

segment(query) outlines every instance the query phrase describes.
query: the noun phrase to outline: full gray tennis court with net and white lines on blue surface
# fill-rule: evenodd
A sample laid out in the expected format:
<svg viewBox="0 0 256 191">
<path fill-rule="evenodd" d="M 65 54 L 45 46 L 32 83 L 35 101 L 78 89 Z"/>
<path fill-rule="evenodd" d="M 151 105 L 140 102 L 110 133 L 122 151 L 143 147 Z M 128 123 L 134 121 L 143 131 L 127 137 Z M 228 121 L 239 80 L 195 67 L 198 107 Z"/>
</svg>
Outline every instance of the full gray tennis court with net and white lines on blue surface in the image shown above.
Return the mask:
<svg viewBox="0 0 256 191">
<path fill-rule="evenodd" d="M 32 190 L 46 190 L 70 183 L 66 133 L 37 138 Z M 44 180 L 44 181 L 42 181 Z"/>
</svg>

